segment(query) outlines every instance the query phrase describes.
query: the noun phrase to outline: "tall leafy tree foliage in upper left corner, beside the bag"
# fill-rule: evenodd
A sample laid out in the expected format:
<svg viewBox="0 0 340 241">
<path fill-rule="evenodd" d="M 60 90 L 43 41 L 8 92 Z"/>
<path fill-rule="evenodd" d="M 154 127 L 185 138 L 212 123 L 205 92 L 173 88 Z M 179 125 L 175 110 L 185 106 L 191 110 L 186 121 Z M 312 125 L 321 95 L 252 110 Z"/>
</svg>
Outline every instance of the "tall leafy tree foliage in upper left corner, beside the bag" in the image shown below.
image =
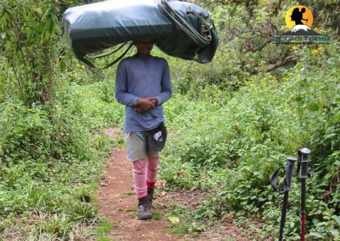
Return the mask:
<svg viewBox="0 0 340 241">
<path fill-rule="evenodd" d="M 57 1 L 1 1 L 1 50 L 27 105 L 54 101 Z"/>
</svg>

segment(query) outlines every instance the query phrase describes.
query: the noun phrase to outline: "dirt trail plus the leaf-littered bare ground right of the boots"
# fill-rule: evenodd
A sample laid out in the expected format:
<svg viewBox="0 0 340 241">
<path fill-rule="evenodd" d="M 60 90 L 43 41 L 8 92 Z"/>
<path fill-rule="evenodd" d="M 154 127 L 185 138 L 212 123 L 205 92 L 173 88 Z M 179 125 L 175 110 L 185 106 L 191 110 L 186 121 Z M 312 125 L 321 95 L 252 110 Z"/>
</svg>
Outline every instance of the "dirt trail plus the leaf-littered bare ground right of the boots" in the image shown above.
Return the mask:
<svg viewBox="0 0 340 241">
<path fill-rule="evenodd" d="M 117 137 L 119 130 L 108 129 L 106 134 Z M 153 212 L 161 213 L 159 220 L 137 220 L 137 198 L 132 186 L 132 165 L 126 159 L 125 148 L 113 148 L 108 164 L 103 169 L 105 179 L 98 189 L 98 207 L 102 215 L 113 223 L 113 229 L 106 234 L 111 240 L 249 240 L 234 227 L 225 227 L 228 232 L 217 233 L 215 230 L 202 233 L 198 237 L 178 237 L 164 228 L 171 223 L 166 219 L 166 211 L 159 206 L 167 206 L 167 199 L 188 204 L 202 198 L 204 194 L 198 191 L 183 191 L 156 196 Z M 162 197 L 161 197 L 162 196 Z M 162 205 L 157 205 L 162 204 Z M 226 238 L 227 237 L 227 238 Z M 229 237 L 229 238 L 228 238 Z"/>
</svg>

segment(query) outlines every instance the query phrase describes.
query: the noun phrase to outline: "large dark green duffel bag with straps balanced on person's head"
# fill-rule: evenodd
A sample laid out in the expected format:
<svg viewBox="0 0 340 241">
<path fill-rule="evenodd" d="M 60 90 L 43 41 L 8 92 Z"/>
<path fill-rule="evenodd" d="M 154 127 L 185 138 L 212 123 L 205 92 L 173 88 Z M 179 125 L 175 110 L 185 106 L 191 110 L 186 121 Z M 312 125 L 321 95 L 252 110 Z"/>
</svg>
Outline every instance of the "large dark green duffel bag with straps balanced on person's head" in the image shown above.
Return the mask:
<svg viewBox="0 0 340 241">
<path fill-rule="evenodd" d="M 109 0 L 77 6 L 63 16 L 77 58 L 130 40 L 152 39 L 166 54 L 207 63 L 218 45 L 208 11 L 177 0 Z"/>
</svg>

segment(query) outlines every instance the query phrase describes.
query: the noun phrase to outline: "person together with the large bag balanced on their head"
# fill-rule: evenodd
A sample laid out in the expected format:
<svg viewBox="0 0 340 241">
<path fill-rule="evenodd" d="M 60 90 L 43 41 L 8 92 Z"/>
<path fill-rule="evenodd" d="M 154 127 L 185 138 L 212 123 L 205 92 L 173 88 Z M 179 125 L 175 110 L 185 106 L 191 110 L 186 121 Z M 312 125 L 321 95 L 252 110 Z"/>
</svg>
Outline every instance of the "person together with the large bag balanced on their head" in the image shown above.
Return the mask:
<svg viewBox="0 0 340 241">
<path fill-rule="evenodd" d="M 166 140 L 162 104 L 171 98 L 171 81 L 166 60 L 150 52 L 155 44 L 172 57 L 210 62 L 218 45 L 210 13 L 186 1 L 108 0 L 67 9 L 63 23 L 74 55 L 89 67 L 96 67 L 97 58 L 122 50 L 100 69 L 120 61 L 115 97 L 125 105 L 124 133 L 139 199 L 138 218 L 151 218 L 159 151 Z M 123 59 L 133 45 L 137 54 Z"/>
</svg>

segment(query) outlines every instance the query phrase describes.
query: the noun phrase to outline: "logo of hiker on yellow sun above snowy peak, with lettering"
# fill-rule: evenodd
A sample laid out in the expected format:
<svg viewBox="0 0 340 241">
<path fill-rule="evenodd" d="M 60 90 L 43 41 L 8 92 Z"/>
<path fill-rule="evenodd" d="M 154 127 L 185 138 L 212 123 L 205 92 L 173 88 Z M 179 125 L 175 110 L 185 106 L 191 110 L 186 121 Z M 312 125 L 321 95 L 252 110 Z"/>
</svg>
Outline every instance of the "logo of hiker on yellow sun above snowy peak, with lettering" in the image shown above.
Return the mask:
<svg viewBox="0 0 340 241">
<path fill-rule="evenodd" d="M 330 37 L 324 36 L 312 30 L 313 13 L 307 6 L 292 6 L 285 13 L 285 25 L 289 30 L 272 37 L 273 43 L 329 43 Z"/>
</svg>

